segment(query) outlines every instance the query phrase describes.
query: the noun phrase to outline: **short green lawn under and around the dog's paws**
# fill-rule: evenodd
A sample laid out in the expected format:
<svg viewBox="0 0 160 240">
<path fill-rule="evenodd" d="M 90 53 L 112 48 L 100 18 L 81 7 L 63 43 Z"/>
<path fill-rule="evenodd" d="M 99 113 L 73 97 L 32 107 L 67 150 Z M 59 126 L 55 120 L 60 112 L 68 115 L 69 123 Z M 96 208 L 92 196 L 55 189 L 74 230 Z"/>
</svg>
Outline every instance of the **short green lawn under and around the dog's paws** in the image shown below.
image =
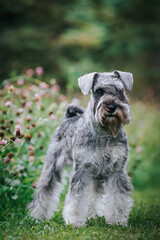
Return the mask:
<svg viewBox="0 0 160 240">
<path fill-rule="evenodd" d="M 66 226 L 62 208 L 51 220 L 36 223 L 18 208 L 6 209 L 1 239 L 160 239 L 160 204 L 156 191 L 134 191 L 135 204 L 128 227 L 109 226 L 104 218 L 91 219 L 85 227 Z"/>
</svg>

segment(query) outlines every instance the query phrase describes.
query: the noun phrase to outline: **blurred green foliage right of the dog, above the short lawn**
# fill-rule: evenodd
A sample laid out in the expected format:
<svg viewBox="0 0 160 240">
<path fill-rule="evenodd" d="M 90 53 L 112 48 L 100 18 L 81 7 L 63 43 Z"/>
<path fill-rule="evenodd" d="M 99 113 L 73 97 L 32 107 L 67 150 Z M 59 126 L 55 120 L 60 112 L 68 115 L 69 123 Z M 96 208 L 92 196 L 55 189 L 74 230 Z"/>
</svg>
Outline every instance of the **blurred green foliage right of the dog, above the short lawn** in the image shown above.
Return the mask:
<svg viewBox="0 0 160 240">
<path fill-rule="evenodd" d="M 160 112 L 155 104 L 135 102 L 128 127 L 131 146 L 128 170 L 137 188 L 158 187 L 160 174 Z"/>
</svg>

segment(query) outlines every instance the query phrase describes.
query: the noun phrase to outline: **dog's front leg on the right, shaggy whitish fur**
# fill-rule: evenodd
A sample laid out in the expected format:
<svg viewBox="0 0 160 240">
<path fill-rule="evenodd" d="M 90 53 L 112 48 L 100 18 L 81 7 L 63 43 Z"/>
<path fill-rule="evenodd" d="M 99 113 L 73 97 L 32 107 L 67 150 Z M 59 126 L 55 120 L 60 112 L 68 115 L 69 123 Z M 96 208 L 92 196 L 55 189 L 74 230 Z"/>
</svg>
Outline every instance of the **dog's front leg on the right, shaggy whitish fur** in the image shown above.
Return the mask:
<svg viewBox="0 0 160 240">
<path fill-rule="evenodd" d="M 114 174 L 106 184 L 105 220 L 108 224 L 120 224 L 127 226 L 127 220 L 133 200 L 129 197 L 132 186 L 125 174 Z"/>
</svg>

